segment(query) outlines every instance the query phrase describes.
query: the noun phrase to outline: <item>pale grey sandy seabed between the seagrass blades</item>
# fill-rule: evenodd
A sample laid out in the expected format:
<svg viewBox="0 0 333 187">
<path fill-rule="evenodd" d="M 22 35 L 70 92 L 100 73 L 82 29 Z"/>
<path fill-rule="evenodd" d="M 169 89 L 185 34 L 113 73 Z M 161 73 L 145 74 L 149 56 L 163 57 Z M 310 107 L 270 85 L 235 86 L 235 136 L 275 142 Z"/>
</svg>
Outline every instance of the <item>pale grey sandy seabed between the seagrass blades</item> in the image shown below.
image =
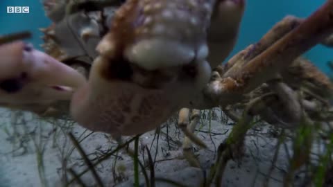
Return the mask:
<svg viewBox="0 0 333 187">
<path fill-rule="evenodd" d="M 201 125 L 196 131 L 197 136 L 208 146 L 206 150 L 194 146 L 194 154 L 206 173 L 215 162 L 217 147 L 233 127 L 232 121 L 228 121 L 219 109 L 215 109 L 214 114 L 216 115 L 211 121 L 202 117 Z M 6 109 L 1 109 L 0 118 L 1 187 L 64 186 L 63 176 L 67 175 L 71 179 L 71 175 L 65 173 L 68 170 L 64 168 L 73 168 L 76 173 L 85 170 L 87 166 L 65 135 L 66 132 L 71 131 L 76 136 L 93 162 L 105 152 L 117 147 L 117 143 L 106 134 L 92 133 L 66 121 L 53 121 L 51 125 L 30 113 L 10 112 Z M 264 181 L 268 181 L 268 186 L 283 186 L 283 177 L 289 163 L 287 158 L 291 154 L 291 142 L 280 146 L 278 157 L 272 165 L 278 145 L 278 138 L 273 132 L 273 127 L 265 124 L 256 125 L 248 131 L 244 157 L 228 162 L 222 179 L 223 186 L 262 186 Z M 142 163 L 148 163 L 144 151 L 147 145 L 151 148 L 150 152 L 155 160 L 156 177 L 178 181 L 185 186 L 198 186 L 200 181 L 203 181 L 205 172 L 189 166 L 182 157 L 182 139 L 182 132 L 176 127 L 176 118 L 171 118 L 162 125 L 158 142 L 155 131 L 140 136 L 139 158 Z M 131 147 L 133 148 L 133 143 Z M 96 166 L 96 171 L 105 186 L 133 186 L 133 159 L 123 151 Z M 85 173 L 81 179 L 87 186 L 96 184 L 91 172 Z M 143 186 L 144 177 L 141 176 L 140 182 Z M 303 182 L 302 172 L 296 173 L 296 183 Z M 160 181 L 156 184 L 172 186 Z"/>
</svg>

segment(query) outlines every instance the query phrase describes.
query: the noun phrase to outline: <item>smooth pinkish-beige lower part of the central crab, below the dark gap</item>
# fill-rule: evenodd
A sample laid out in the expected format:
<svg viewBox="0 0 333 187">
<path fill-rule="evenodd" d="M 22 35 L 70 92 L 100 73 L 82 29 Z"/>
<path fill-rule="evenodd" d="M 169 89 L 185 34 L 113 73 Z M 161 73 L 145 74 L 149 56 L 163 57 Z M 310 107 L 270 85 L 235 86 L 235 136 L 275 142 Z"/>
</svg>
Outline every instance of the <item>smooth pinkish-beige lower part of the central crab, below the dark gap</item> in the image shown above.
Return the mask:
<svg viewBox="0 0 333 187">
<path fill-rule="evenodd" d="M 89 84 L 74 94 L 71 115 L 83 127 L 107 132 L 115 139 L 155 129 L 180 109 L 188 89 L 194 89 L 191 82 L 185 82 L 187 88 L 187 84 L 171 82 L 153 89 L 115 78 L 105 80 L 93 73 L 101 71 L 102 63 L 100 57 L 94 61 Z"/>
</svg>

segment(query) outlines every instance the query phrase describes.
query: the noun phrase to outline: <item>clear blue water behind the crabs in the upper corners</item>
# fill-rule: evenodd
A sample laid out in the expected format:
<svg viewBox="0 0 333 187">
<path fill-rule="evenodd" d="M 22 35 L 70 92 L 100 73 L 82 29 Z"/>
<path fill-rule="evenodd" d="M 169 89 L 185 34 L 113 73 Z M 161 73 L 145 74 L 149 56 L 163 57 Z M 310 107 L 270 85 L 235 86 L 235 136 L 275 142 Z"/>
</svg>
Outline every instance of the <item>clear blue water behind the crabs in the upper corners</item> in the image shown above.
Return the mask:
<svg viewBox="0 0 333 187">
<path fill-rule="evenodd" d="M 0 35 L 30 30 L 33 38 L 29 39 L 37 48 L 42 44 L 37 28 L 49 26 L 50 21 L 44 16 L 41 0 L 0 0 Z M 325 0 L 248 0 L 241 33 L 234 53 L 253 44 L 264 35 L 276 22 L 286 15 L 307 17 L 321 6 Z M 30 14 L 7 14 L 6 6 L 30 6 Z M 305 54 L 325 73 L 332 73 L 326 65 L 333 60 L 332 49 L 316 46 Z"/>
</svg>

